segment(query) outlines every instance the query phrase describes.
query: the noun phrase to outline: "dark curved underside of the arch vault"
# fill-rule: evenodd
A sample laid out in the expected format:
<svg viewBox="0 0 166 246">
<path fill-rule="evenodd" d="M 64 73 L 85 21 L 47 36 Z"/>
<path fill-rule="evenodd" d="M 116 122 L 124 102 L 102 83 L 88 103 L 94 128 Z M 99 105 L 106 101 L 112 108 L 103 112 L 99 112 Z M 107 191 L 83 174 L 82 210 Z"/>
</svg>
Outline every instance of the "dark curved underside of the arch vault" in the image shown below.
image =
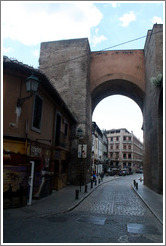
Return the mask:
<svg viewBox="0 0 166 246">
<path fill-rule="evenodd" d="M 98 85 L 91 93 L 92 114 L 97 104 L 105 97 L 123 95 L 134 100 L 143 112 L 144 92 L 134 83 L 123 80 L 108 80 Z"/>
</svg>

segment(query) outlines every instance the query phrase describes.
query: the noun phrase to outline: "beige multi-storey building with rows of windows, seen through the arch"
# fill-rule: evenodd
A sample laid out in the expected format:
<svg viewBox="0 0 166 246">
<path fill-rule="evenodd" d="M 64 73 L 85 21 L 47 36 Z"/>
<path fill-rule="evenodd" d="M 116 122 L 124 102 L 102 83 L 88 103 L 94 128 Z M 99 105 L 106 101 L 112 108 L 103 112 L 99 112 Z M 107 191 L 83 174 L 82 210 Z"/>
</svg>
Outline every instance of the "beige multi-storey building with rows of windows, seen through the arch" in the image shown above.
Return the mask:
<svg viewBox="0 0 166 246">
<path fill-rule="evenodd" d="M 128 169 L 139 171 L 143 166 L 143 144 L 125 128 L 106 131 L 108 138 L 108 160 L 115 172 Z"/>
</svg>

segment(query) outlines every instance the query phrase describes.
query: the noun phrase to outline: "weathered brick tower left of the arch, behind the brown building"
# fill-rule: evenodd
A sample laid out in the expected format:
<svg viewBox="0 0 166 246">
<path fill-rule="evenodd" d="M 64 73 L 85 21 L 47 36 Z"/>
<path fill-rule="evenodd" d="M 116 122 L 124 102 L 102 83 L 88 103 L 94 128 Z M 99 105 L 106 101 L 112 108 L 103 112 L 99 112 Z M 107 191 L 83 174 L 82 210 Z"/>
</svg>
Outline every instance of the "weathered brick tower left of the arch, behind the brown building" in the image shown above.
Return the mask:
<svg viewBox="0 0 166 246">
<path fill-rule="evenodd" d="M 41 44 L 40 70 L 55 86 L 78 125 L 73 129 L 71 182 L 78 182 L 80 173 L 89 176 L 91 160 L 91 96 L 89 88 L 90 48 L 88 39 L 63 40 Z M 76 137 L 83 130 L 83 139 Z M 87 144 L 87 158 L 78 159 L 78 144 Z M 85 179 L 85 178 L 84 178 Z"/>
</svg>

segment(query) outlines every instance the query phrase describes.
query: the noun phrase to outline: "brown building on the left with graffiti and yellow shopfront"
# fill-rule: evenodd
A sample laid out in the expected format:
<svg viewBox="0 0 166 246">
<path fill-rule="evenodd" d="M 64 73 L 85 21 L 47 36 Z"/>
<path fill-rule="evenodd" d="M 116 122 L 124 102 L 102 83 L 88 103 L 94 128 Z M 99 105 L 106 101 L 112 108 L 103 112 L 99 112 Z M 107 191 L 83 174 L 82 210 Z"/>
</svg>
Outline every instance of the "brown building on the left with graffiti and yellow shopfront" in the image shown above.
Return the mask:
<svg viewBox="0 0 166 246">
<path fill-rule="evenodd" d="M 27 79 L 28 78 L 28 79 Z M 26 83 L 39 82 L 36 93 Z M 76 120 L 47 77 L 16 60 L 3 60 L 4 208 L 27 204 L 70 179 L 71 129 Z"/>
</svg>

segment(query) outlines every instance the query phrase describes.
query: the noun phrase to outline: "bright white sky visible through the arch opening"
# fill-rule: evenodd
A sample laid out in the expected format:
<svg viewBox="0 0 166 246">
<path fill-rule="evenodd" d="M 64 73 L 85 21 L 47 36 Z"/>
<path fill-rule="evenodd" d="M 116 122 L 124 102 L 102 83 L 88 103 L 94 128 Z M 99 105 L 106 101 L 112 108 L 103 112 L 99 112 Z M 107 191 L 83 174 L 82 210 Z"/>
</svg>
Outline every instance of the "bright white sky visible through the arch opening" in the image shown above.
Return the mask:
<svg viewBox="0 0 166 246">
<path fill-rule="evenodd" d="M 143 142 L 142 111 L 126 96 L 113 95 L 101 100 L 93 111 L 92 121 L 95 121 L 101 130 L 126 128 Z"/>
</svg>

